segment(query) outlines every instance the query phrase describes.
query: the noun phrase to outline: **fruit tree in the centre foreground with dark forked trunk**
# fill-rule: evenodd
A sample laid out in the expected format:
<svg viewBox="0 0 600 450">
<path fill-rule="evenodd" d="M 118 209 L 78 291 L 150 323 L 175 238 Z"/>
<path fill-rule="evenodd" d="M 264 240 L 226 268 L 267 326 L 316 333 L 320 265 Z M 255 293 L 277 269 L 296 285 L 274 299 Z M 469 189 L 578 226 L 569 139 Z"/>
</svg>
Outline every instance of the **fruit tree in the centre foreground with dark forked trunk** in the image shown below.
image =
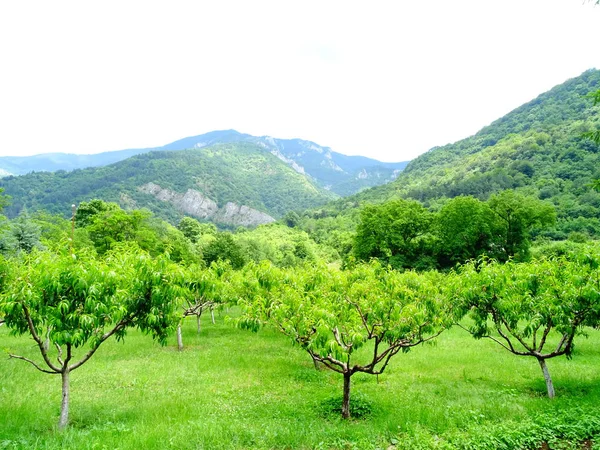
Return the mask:
<svg viewBox="0 0 600 450">
<path fill-rule="evenodd" d="M 272 325 L 315 363 L 340 373 L 344 418 L 350 417 L 352 375 L 382 374 L 394 355 L 452 322 L 437 273 L 398 273 L 378 263 L 352 271 L 262 264 L 248 270 L 244 283 L 238 324 L 254 331 Z"/>
</svg>

